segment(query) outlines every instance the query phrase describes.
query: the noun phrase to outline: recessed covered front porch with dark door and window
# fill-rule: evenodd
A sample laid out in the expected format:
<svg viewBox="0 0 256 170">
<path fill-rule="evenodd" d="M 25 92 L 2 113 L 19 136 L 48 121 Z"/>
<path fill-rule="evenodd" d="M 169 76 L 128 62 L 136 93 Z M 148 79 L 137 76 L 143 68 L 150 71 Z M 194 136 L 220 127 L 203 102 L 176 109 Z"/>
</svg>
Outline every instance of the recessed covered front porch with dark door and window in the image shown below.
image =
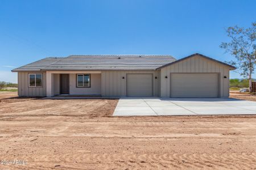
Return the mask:
<svg viewBox="0 0 256 170">
<path fill-rule="evenodd" d="M 47 97 L 101 96 L 101 71 L 47 71 L 46 82 Z"/>
</svg>

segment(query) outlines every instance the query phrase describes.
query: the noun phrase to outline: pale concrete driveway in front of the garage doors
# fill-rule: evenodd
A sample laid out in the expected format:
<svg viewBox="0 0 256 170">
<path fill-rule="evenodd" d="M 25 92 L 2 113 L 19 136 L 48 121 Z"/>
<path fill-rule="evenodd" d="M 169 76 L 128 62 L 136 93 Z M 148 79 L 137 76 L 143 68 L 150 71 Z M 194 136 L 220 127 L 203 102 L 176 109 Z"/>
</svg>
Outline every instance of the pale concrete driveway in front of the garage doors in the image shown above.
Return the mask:
<svg viewBox="0 0 256 170">
<path fill-rule="evenodd" d="M 113 116 L 256 114 L 256 101 L 221 98 L 119 99 Z"/>
</svg>

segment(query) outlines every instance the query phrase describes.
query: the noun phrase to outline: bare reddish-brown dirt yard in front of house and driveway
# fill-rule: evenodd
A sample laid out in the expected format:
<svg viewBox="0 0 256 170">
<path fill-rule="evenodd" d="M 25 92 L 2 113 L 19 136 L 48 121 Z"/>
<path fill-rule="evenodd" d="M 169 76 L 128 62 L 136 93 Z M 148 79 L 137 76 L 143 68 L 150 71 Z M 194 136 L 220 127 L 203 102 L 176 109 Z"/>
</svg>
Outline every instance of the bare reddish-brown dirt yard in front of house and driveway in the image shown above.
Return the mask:
<svg viewBox="0 0 256 170">
<path fill-rule="evenodd" d="M 0 93 L 0 169 L 255 169 L 256 116 L 112 117 L 118 100 Z M 10 98 L 14 97 L 14 98 Z"/>
</svg>

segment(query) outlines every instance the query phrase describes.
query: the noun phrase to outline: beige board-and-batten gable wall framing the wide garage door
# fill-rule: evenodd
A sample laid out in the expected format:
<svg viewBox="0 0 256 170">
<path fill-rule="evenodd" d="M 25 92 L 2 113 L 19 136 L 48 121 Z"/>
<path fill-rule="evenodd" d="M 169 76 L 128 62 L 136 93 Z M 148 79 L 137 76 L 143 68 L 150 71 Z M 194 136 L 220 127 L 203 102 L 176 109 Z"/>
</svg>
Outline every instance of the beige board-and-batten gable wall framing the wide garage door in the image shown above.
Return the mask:
<svg viewBox="0 0 256 170">
<path fill-rule="evenodd" d="M 193 56 L 161 69 L 161 97 L 171 97 L 171 73 L 218 73 L 219 97 L 229 96 L 229 67 L 210 59 Z M 167 78 L 165 78 L 167 76 Z M 226 76 L 226 78 L 224 78 Z M 187 82 L 189 83 L 189 82 Z M 193 89 L 191 89 L 193 90 Z"/>
</svg>

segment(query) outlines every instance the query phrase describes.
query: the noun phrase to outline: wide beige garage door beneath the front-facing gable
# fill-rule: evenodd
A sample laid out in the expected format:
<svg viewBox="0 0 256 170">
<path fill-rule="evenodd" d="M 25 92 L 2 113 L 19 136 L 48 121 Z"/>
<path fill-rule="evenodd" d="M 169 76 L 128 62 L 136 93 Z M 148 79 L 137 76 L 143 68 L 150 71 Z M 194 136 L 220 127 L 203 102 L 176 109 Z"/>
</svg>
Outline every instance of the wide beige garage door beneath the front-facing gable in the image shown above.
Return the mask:
<svg viewBox="0 0 256 170">
<path fill-rule="evenodd" d="M 172 73 L 171 97 L 218 97 L 217 73 Z"/>
</svg>

